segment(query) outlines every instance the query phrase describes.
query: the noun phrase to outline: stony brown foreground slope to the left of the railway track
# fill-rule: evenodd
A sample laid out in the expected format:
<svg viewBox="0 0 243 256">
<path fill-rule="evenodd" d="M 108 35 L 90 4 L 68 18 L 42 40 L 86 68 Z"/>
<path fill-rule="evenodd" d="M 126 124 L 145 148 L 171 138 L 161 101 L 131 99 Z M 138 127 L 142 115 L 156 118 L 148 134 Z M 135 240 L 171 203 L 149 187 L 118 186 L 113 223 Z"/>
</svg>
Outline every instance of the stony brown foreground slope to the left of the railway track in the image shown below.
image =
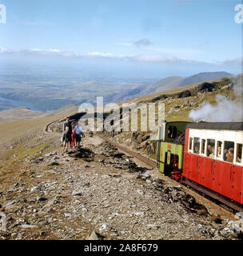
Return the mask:
<svg viewBox="0 0 243 256">
<path fill-rule="evenodd" d="M 0 168 L 0 239 L 240 238 L 234 222 L 98 136 L 64 154 L 59 137 L 30 136 L 26 146 L 49 146 Z"/>
</svg>

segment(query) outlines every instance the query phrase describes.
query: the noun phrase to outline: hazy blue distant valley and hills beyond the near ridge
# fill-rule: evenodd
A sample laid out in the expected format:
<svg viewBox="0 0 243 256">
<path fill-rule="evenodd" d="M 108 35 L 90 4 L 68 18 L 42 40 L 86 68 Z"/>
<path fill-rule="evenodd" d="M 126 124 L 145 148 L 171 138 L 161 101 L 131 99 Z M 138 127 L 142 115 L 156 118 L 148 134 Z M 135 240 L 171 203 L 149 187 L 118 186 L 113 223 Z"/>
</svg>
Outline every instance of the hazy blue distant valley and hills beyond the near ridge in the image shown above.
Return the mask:
<svg viewBox="0 0 243 256">
<path fill-rule="evenodd" d="M 165 90 L 208 82 L 229 77 L 226 72 L 207 72 L 195 74 L 186 78 L 168 77 L 153 82 L 151 79 L 107 78 L 96 74 L 92 80 L 85 75 L 54 74 L 53 77 L 42 74 L 10 75 L 0 74 L 0 120 L 39 116 L 52 113 L 65 106 L 78 109 L 83 102 L 96 106 L 96 97 L 103 96 L 104 104 L 123 102 L 132 98 L 154 94 Z M 100 82 L 100 80 L 102 82 Z M 11 109 L 17 108 L 19 116 L 11 114 Z M 26 110 L 29 109 L 29 110 Z M 43 112 L 43 113 L 40 113 Z M 15 111 L 14 111 L 15 113 Z"/>
</svg>

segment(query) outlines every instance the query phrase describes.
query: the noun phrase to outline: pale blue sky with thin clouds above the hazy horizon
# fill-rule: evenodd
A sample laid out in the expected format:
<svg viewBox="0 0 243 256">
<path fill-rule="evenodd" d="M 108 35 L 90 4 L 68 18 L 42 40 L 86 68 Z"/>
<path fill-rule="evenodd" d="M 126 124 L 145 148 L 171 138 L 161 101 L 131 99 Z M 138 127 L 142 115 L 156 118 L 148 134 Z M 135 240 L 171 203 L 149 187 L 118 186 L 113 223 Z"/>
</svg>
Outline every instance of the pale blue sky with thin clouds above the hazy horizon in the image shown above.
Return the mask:
<svg viewBox="0 0 243 256">
<path fill-rule="evenodd" d="M 241 0 L 0 0 L 0 62 L 242 72 Z M 163 72 L 162 72 L 163 70 Z M 165 71 L 167 70 L 167 71 Z M 154 74 L 155 74 L 154 73 Z"/>
</svg>

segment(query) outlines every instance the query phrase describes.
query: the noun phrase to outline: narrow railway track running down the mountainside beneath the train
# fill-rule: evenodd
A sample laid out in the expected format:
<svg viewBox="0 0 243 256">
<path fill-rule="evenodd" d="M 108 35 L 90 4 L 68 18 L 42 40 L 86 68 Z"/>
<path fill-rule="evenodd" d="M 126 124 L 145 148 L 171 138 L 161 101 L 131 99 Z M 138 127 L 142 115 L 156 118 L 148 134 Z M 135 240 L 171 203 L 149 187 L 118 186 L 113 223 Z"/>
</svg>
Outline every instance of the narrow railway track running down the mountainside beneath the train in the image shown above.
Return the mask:
<svg viewBox="0 0 243 256">
<path fill-rule="evenodd" d="M 60 122 L 61 120 L 56 120 L 54 122 L 50 122 L 49 124 L 46 125 L 44 128 L 44 133 L 45 134 L 54 134 L 53 131 L 50 130 L 50 126 L 54 124 L 55 122 Z M 102 136 L 101 134 L 98 134 L 99 138 L 102 138 L 104 141 L 109 142 L 111 145 L 117 147 L 119 150 L 125 152 L 126 154 L 129 154 L 133 158 L 137 158 L 137 160 L 145 163 L 145 165 L 150 166 L 153 169 L 157 168 L 157 162 L 153 161 L 150 158 L 147 158 L 137 152 L 134 152 L 133 150 L 129 150 L 125 146 L 121 146 L 118 142 L 112 141 L 110 138 L 106 138 L 105 136 Z M 169 178 L 168 176 L 163 176 L 163 179 L 167 182 L 173 182 L 173 184 L 178 185 L 178 182 L 173 180 L 172 178 Z M 205 197 L 205 190 L 202 190 L 200 187 L 196 186 L 195 184 L 189 184 L 188 182 L 183 182 L 180 184 L 183 186 L 184 190 L 188 193 L 191 194 L 194 198 L 197 198 L 197 201 L 200 202 L 201 204 L 205 205 L 206 208 L 210 211 L 213 212 L 215 215 L 220 215 L 222 218 L 229 218 L 229 219 L 234 219 L 234 214 L 232 210 L 225 209 L 225 207 L 218 205 L 217 202 L 213 202 L 211 198 L 213 198 L 213 195 L 209 195 L 209 197 Z M 189 186 L 189 187 L 188 187 Z M 216 200 L 219 200 L 219 198 L 213 198 Z M 220 200 L 219 200 L 220 201 Z M 235 207 L 234 205 L 229 205 L 229 203 L 223 202 L 226 206 L 229 206 L 231 209 L 235 211 L 242 211 L 242 209 L 239 209 L 238 207 Z"/>
</svg>

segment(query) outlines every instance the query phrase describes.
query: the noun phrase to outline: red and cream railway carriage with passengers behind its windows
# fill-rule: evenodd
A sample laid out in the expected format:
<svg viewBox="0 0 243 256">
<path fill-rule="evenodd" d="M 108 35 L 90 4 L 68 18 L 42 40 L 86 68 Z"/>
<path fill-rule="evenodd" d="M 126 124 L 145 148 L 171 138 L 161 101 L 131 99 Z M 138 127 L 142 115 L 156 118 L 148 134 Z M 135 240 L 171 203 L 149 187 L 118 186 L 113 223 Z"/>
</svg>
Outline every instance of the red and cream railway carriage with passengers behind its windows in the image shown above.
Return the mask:
<svg viewBox="0 0 243 256">
<path fill-rule="evenodd" d="M 243 204 L 243 122 L 197 122 L 185 129 L 183 179 Z"/>
</svg>

